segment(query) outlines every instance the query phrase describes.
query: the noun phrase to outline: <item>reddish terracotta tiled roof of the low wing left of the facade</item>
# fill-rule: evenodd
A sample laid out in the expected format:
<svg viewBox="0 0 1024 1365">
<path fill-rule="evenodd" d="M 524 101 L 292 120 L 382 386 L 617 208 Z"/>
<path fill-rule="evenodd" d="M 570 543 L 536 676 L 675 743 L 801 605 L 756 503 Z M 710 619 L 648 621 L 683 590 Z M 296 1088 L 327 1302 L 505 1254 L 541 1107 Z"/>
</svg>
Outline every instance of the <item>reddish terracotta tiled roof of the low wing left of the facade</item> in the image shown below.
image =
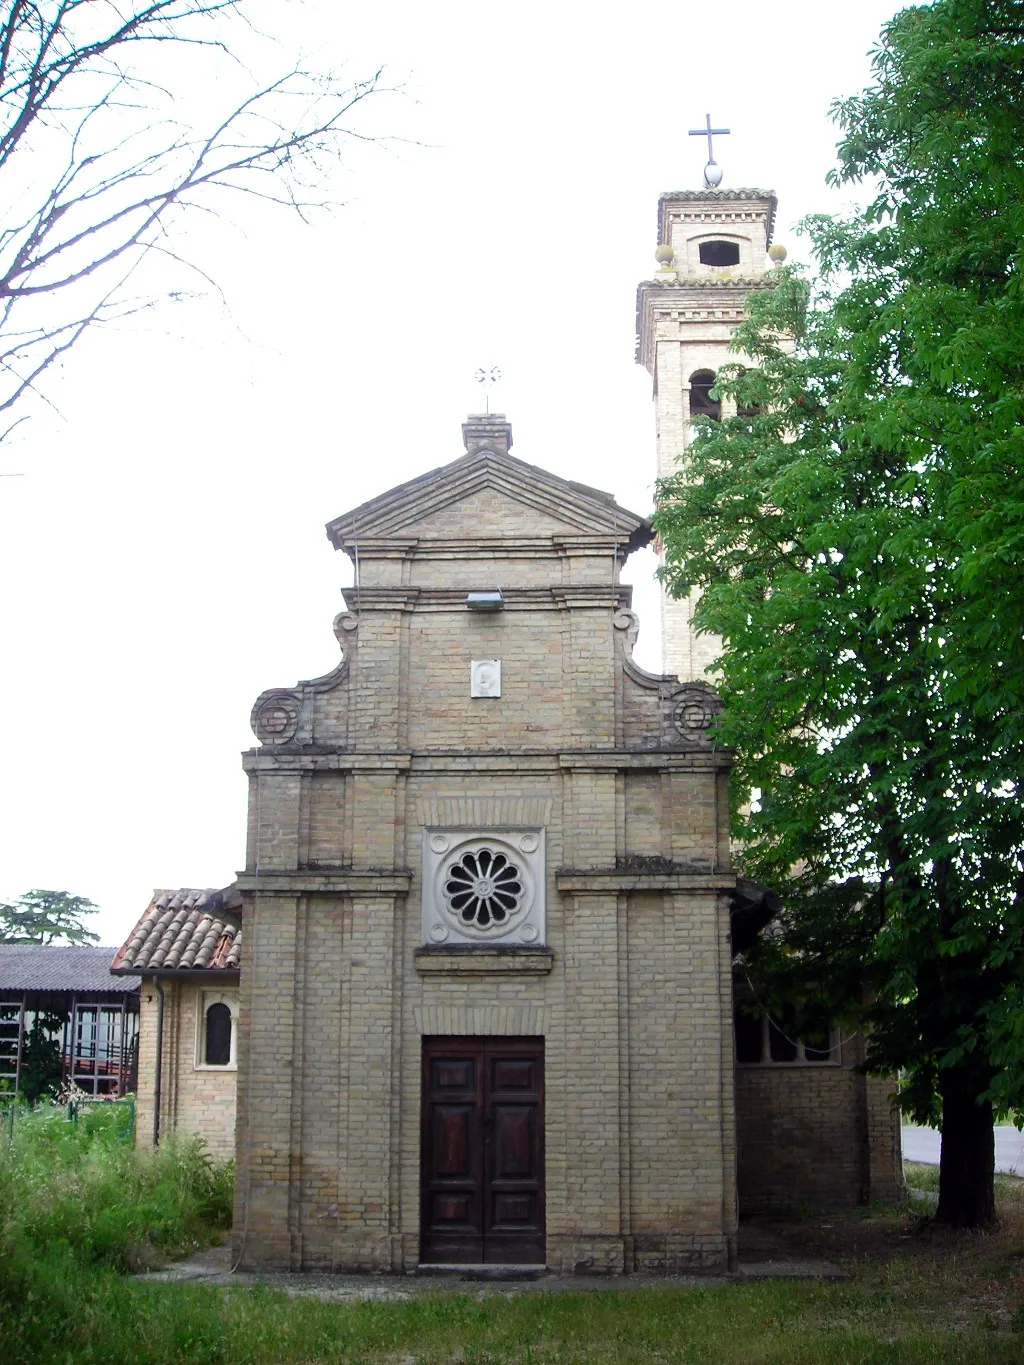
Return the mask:
<svg viewBox="0 0 1024 1365">
<path fill-rule="evenodd" d="M 154 891 L 112 972 L 238 972 L 242 898 L 233 886 Z"/>
</svg>

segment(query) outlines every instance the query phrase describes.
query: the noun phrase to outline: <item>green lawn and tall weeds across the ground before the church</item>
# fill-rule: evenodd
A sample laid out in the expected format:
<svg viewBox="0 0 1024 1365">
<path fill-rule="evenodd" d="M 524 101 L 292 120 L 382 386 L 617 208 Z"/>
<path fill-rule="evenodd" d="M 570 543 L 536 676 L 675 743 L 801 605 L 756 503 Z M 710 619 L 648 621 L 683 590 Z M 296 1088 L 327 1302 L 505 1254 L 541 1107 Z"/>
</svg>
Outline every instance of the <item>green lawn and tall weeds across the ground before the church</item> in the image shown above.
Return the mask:
<svg viewBox="0 0 1024 1365">
<path fill-rule="evenodd" d="M 18 1125 L 12 1152 L 0 1149 L 4 1365 L 1024 1361 L 1021 1182 L 1001 1190 L 1004 1223 L 991 1234 L 930 1239 L 894 1209 L 788 1230 L 795 1252 L 834 1259 L 847 1249 L 851 1279 L 840 1284 L 463 1287 L 332 1304 L 126 1275 L 216 1237 L 229 1171 L 198 1144 L 137 1155 L 116 1140 L 116 1122 L 93 1112 L 75 1126 L 42 1111 Z"/>
</svg>

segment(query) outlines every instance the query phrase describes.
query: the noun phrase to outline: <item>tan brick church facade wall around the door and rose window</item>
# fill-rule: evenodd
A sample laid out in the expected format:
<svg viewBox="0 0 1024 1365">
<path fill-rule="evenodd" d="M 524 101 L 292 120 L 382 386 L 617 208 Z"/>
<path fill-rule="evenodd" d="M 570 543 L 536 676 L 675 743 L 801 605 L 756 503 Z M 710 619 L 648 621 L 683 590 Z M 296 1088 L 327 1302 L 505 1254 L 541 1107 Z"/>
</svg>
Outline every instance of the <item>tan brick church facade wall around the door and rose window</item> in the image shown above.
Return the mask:
<svg viewBox="0 0 1024 1365">
<path fill-rule="evenodd" d="M 254 707 L 235 1250 L 415 1268 L 423 1039 L 542 1036 L 547 1264 L 722 1265 L 729 758 L 676 728 L 679 680 L 632 661 L 618 571 L 649 524 L 515 460 L 498 415 L 464 434 L 453 464 L 330 523 L 358 557 L 343 662 Z M 467 609 L 494 587 L 501 613 Z M 500 698 L 470 696 L 474 658 L 501 659 Z M 445 971 L 421 940 L 422 831 L 517 823 L 545 829 L 546 945 Z M 751 1170 L 769 1193 L 791 1174 Z"/>
</svg>

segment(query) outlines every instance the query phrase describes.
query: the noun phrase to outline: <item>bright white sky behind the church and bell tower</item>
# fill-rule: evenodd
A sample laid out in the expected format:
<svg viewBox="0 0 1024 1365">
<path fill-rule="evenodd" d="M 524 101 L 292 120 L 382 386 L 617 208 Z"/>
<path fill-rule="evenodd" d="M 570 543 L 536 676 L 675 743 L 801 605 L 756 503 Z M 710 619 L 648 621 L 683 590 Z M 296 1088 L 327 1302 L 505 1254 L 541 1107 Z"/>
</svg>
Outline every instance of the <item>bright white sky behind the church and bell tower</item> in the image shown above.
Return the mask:
<svg viewBox="0 0 1024 1365">
<path fill-rule="evenodd" d="M 233 878 L 251 704 L 337 662 L 351 573 L 324 523 L 460 456 L 478 366 L 505 373 L 515 455 L 650 511 L 635 291 L 658 194 L 700 184 L 687 130 L 732 128 L 724 188 L 774 188 L 800 258 L 796 220 L 849 198 L 825 187 L 829 104 L 896 8 L 269 4 L 283 66 L 404 82 L 360 126 L 410 141 L 356 152 L 310 227 L 247 203 L 195 222 L 228 307 L 93 336 L 0 448 L 23 474 L 0 479 L 0 898 L 87 895 L 119 943 L 154 886 Z M 644 551 L 627 576 L 657 669 L 651 572 Z"/>
</svg>

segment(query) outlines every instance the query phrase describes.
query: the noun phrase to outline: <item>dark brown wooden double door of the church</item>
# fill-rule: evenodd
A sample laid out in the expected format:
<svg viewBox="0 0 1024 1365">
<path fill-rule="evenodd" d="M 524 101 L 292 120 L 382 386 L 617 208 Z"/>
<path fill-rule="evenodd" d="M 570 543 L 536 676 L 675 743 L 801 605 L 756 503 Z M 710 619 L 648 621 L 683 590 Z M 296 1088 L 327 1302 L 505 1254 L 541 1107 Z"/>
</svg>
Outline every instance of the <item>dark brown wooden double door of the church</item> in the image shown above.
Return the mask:
<svg viewBox="0 0 1024 1365">
<path fill-rule="evenodd" d="M 423 1039 L 425 1263 L 542 1265 L 543 1039 Z"/>
</svg>

